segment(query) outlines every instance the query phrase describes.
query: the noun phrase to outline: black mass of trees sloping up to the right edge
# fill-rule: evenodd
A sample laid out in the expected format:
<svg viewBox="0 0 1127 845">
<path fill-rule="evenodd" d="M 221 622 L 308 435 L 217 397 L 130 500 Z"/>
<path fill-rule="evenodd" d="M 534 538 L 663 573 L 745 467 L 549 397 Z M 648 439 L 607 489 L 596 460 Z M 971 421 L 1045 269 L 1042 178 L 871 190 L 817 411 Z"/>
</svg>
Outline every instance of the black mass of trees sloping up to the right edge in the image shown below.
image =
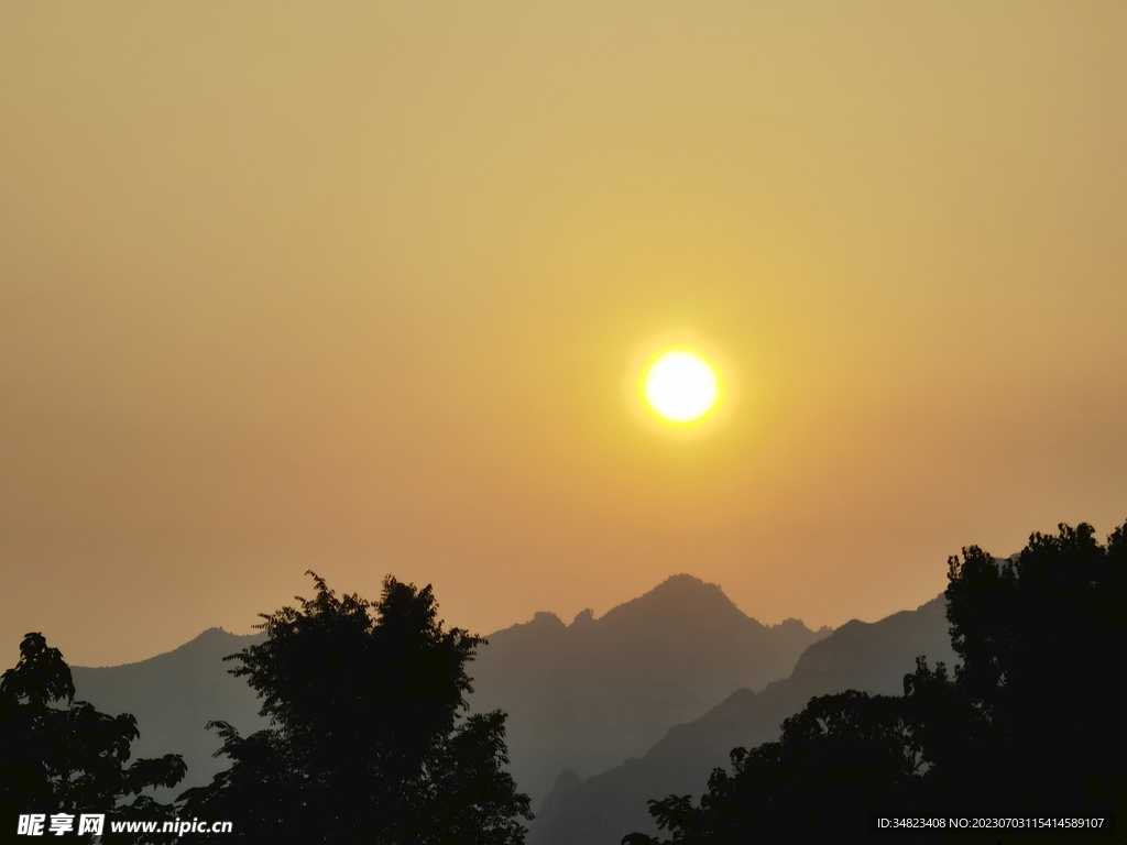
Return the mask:
<svg viewBox="0 0 1127 845">
<path fill-rule="evenodd" d="M 948 579 L 953 678 L 921 657 L 902 697 L 813 699 L 778 742 L 735 749 L 699 806 L 650 801 L 672 842 L 864 840 L 867 810 L 1125 818 L 1127 526 L 1101 545 L 1061 525 L 1010 560 L 970 546 Z"/>
</svg>

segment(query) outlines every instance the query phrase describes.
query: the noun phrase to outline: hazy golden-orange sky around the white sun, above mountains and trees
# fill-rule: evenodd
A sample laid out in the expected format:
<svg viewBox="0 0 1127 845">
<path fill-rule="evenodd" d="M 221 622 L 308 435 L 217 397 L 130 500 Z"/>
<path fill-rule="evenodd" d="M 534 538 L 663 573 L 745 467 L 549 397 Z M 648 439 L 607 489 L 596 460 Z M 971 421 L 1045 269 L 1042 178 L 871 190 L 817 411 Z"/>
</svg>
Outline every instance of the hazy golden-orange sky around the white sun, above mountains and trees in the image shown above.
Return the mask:
<svg viewBox="0 0 1127 845">
<path fill-rule="evenodd" d="M 0 2 L 0 668 L 763 622 L 1127 519 L 1127 5 Z M 729 385 L 694 436 L 646 356 Z"/>
</svg>

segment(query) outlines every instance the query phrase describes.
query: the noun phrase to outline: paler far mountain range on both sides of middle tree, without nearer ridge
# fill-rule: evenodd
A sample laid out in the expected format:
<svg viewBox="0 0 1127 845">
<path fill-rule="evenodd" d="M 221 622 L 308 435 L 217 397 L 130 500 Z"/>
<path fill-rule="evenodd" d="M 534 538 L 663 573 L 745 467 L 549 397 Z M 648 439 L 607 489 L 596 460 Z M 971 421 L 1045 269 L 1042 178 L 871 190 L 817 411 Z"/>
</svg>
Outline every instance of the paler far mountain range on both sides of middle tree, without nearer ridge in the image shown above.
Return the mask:
<svg viewBox="0 0 1127 845">
<path fill-rule="evenodd" d="M 709 711 L 733 690 L 786 676 L 802 650 L 828 634 L 788 620 L 765 626 L 715 584 L 669 578 L 601 619 L 591 611 L 565 625 L 551 613 L 488 637 L 468 671 L 476 711 L 509 714 L 511 770 L 535 803 L 561 770 L 584 776 L 644 753 L 671 724 Z M 166 655 L 127 666 L 74 667 L 78 696 L 137 719 L 134 756 L 183 754 L 187 779 L 168 799 L 227 766 L 204 726 L 224 720 L 243 733 L 265 726 L 259 701 L 222 658 L 260 642 L 205 631 Z"/>
</svg>

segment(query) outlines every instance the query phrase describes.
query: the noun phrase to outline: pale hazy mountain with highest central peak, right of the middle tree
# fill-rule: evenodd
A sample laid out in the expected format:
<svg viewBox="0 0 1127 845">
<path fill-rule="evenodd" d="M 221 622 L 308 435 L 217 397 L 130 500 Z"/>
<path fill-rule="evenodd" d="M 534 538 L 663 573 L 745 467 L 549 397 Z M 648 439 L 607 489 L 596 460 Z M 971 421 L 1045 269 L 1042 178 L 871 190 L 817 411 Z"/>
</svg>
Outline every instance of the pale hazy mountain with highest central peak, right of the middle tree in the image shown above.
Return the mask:
<svg viewBox="0 0 1127 845">
<path fill-rule="evenodd" d="M 538 613 L 490 634 L 471 703 L 509 714 L 512 772 L 539 804 L 561 771 L 586 777 L 642 754 L 734 690 L 784 677 L 828 633 L 762 625 L 717 585 L 676 575 L 601 619 Z"/>
</svg>

